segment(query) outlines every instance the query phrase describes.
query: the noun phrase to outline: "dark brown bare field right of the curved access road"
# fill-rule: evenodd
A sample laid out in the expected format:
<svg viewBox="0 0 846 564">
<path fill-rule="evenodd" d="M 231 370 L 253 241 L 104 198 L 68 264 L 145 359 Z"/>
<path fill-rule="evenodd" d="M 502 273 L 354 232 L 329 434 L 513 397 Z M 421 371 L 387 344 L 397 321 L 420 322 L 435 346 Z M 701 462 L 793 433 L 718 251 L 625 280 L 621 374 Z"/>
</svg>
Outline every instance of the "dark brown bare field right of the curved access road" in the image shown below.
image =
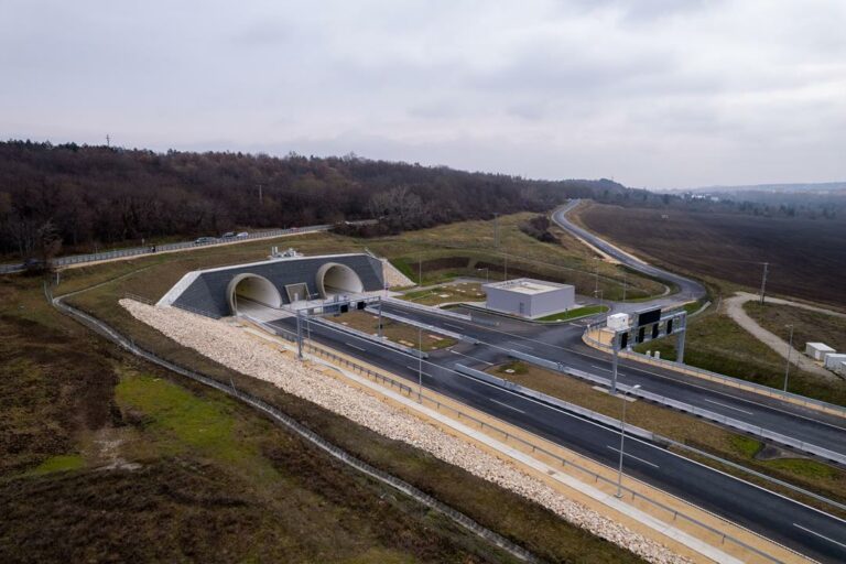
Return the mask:
<svg viewBox="0 0 846 564">
<path fill-rule="evenodd" d="M 668 218 L 662 218 L 668 215 Z M 846 220 L 766 218 L 590 204 L 588 229 L 668 267 L 846 308 Z"/>
</svg>

